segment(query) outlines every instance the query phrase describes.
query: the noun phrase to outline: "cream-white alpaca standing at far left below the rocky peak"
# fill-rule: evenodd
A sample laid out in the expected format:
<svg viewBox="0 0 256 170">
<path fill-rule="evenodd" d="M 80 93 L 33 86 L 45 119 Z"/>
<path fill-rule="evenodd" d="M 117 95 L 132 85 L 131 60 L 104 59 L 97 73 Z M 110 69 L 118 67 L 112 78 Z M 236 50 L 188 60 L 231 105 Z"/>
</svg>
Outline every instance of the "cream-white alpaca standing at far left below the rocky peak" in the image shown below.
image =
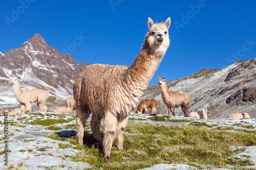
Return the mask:
<svg viewBox="0 0 256 170">
<path fill-rule="evenodd" d="M 25 113 L 26 110 L 28 113 L 31 113 L 31 103 L 36 103 L 40 107 L 41 112 L 47 111 L 45 102 L 48 99 L 48 94 L 45 90 L 22 90 L 19 87 L 17 76 L 10 76 L 10 83 L 12 85 L 16 99 L 20 103 L 22 114 Z"/>
</svg>

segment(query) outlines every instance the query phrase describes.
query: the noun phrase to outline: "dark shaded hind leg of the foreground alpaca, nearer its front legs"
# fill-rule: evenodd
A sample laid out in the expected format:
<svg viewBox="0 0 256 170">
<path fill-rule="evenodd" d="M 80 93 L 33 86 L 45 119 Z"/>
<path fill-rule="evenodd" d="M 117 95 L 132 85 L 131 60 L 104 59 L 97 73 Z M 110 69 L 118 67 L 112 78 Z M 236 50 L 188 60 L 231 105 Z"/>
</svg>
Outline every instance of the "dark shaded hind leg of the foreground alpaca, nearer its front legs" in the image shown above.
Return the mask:
<svg viewBox="0 0 256 170">
<path fill-rule="evenodd" d="M 100 120 L 102 119 L 102 114 L 93 113 L 92 119 L 91 119 L 91 128 L 93 131 L 93 137 L 99 142 L 100 147 L 102 147 L 102 136 L 99 131 L 100 126 Z"/>
</svg>

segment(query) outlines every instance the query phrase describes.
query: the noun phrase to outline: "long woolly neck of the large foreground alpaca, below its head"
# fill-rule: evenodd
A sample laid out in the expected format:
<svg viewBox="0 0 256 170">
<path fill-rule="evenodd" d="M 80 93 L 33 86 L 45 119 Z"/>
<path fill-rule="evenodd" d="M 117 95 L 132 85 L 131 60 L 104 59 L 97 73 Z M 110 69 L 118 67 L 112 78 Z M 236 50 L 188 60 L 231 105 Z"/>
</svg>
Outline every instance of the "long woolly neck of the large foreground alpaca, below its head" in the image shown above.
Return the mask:
<svg viewBox="0 0 256 170">
<path fill-rule="evenodd" d="M 150 45 L 147 38 L 148 35 L 145 38 L 145 42 L 140 53 L 138 54 L 138 57 L 126 70 L 126 74 L 128 75 L 126 78 L 134 82 L 137 87 L 146 86 L 145 89 L 153 78 L 155 71 L 162 61 L 168 47 L 164 44 Z"/>
</svg>

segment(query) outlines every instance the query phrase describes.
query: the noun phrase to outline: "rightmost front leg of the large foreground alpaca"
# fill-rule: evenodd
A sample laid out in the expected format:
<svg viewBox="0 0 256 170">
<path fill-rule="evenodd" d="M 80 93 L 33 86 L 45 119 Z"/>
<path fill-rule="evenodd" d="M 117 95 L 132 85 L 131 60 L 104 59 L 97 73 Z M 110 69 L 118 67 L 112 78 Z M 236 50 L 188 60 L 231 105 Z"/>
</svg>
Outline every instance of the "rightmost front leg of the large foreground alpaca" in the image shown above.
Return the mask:
<svg viewBox="0 0 256 170">
<path fill-rule="evenodd" d="M 117 139 L 117 149 L 119 151 L 123 150 L 123 129 L 128 124 L 129 116 L 121 118 L 120 122 L 117 125 L 116 139 Z"/>
</svg>

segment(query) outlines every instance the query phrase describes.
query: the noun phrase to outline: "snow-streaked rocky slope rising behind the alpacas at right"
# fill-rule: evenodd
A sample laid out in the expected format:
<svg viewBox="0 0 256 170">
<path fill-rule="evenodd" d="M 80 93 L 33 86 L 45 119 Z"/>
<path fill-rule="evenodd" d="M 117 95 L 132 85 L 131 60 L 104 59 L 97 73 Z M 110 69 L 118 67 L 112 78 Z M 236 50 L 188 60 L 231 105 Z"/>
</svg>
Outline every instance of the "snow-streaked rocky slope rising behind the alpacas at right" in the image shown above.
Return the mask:
<svg viewBox="0 0 256 170">
<path fill-rule="evenodd" d="M 238 61 L 223 69 L 203 69 L 193 75 L 167 82 L 169 90 L 191 95 L 189 111 L 208 110 L 208 118 L 227 118 L 231 113 L 248 112 L 256 117 L 256 59 Z M 157 81 L 157 80 L 156 80 Z M 168 113 L 159 86 L 147 89 L 145 98 L 155 98 L 158 112 Z M 181 108 L 176 115 L 184 115 Z"/>
</svg>

